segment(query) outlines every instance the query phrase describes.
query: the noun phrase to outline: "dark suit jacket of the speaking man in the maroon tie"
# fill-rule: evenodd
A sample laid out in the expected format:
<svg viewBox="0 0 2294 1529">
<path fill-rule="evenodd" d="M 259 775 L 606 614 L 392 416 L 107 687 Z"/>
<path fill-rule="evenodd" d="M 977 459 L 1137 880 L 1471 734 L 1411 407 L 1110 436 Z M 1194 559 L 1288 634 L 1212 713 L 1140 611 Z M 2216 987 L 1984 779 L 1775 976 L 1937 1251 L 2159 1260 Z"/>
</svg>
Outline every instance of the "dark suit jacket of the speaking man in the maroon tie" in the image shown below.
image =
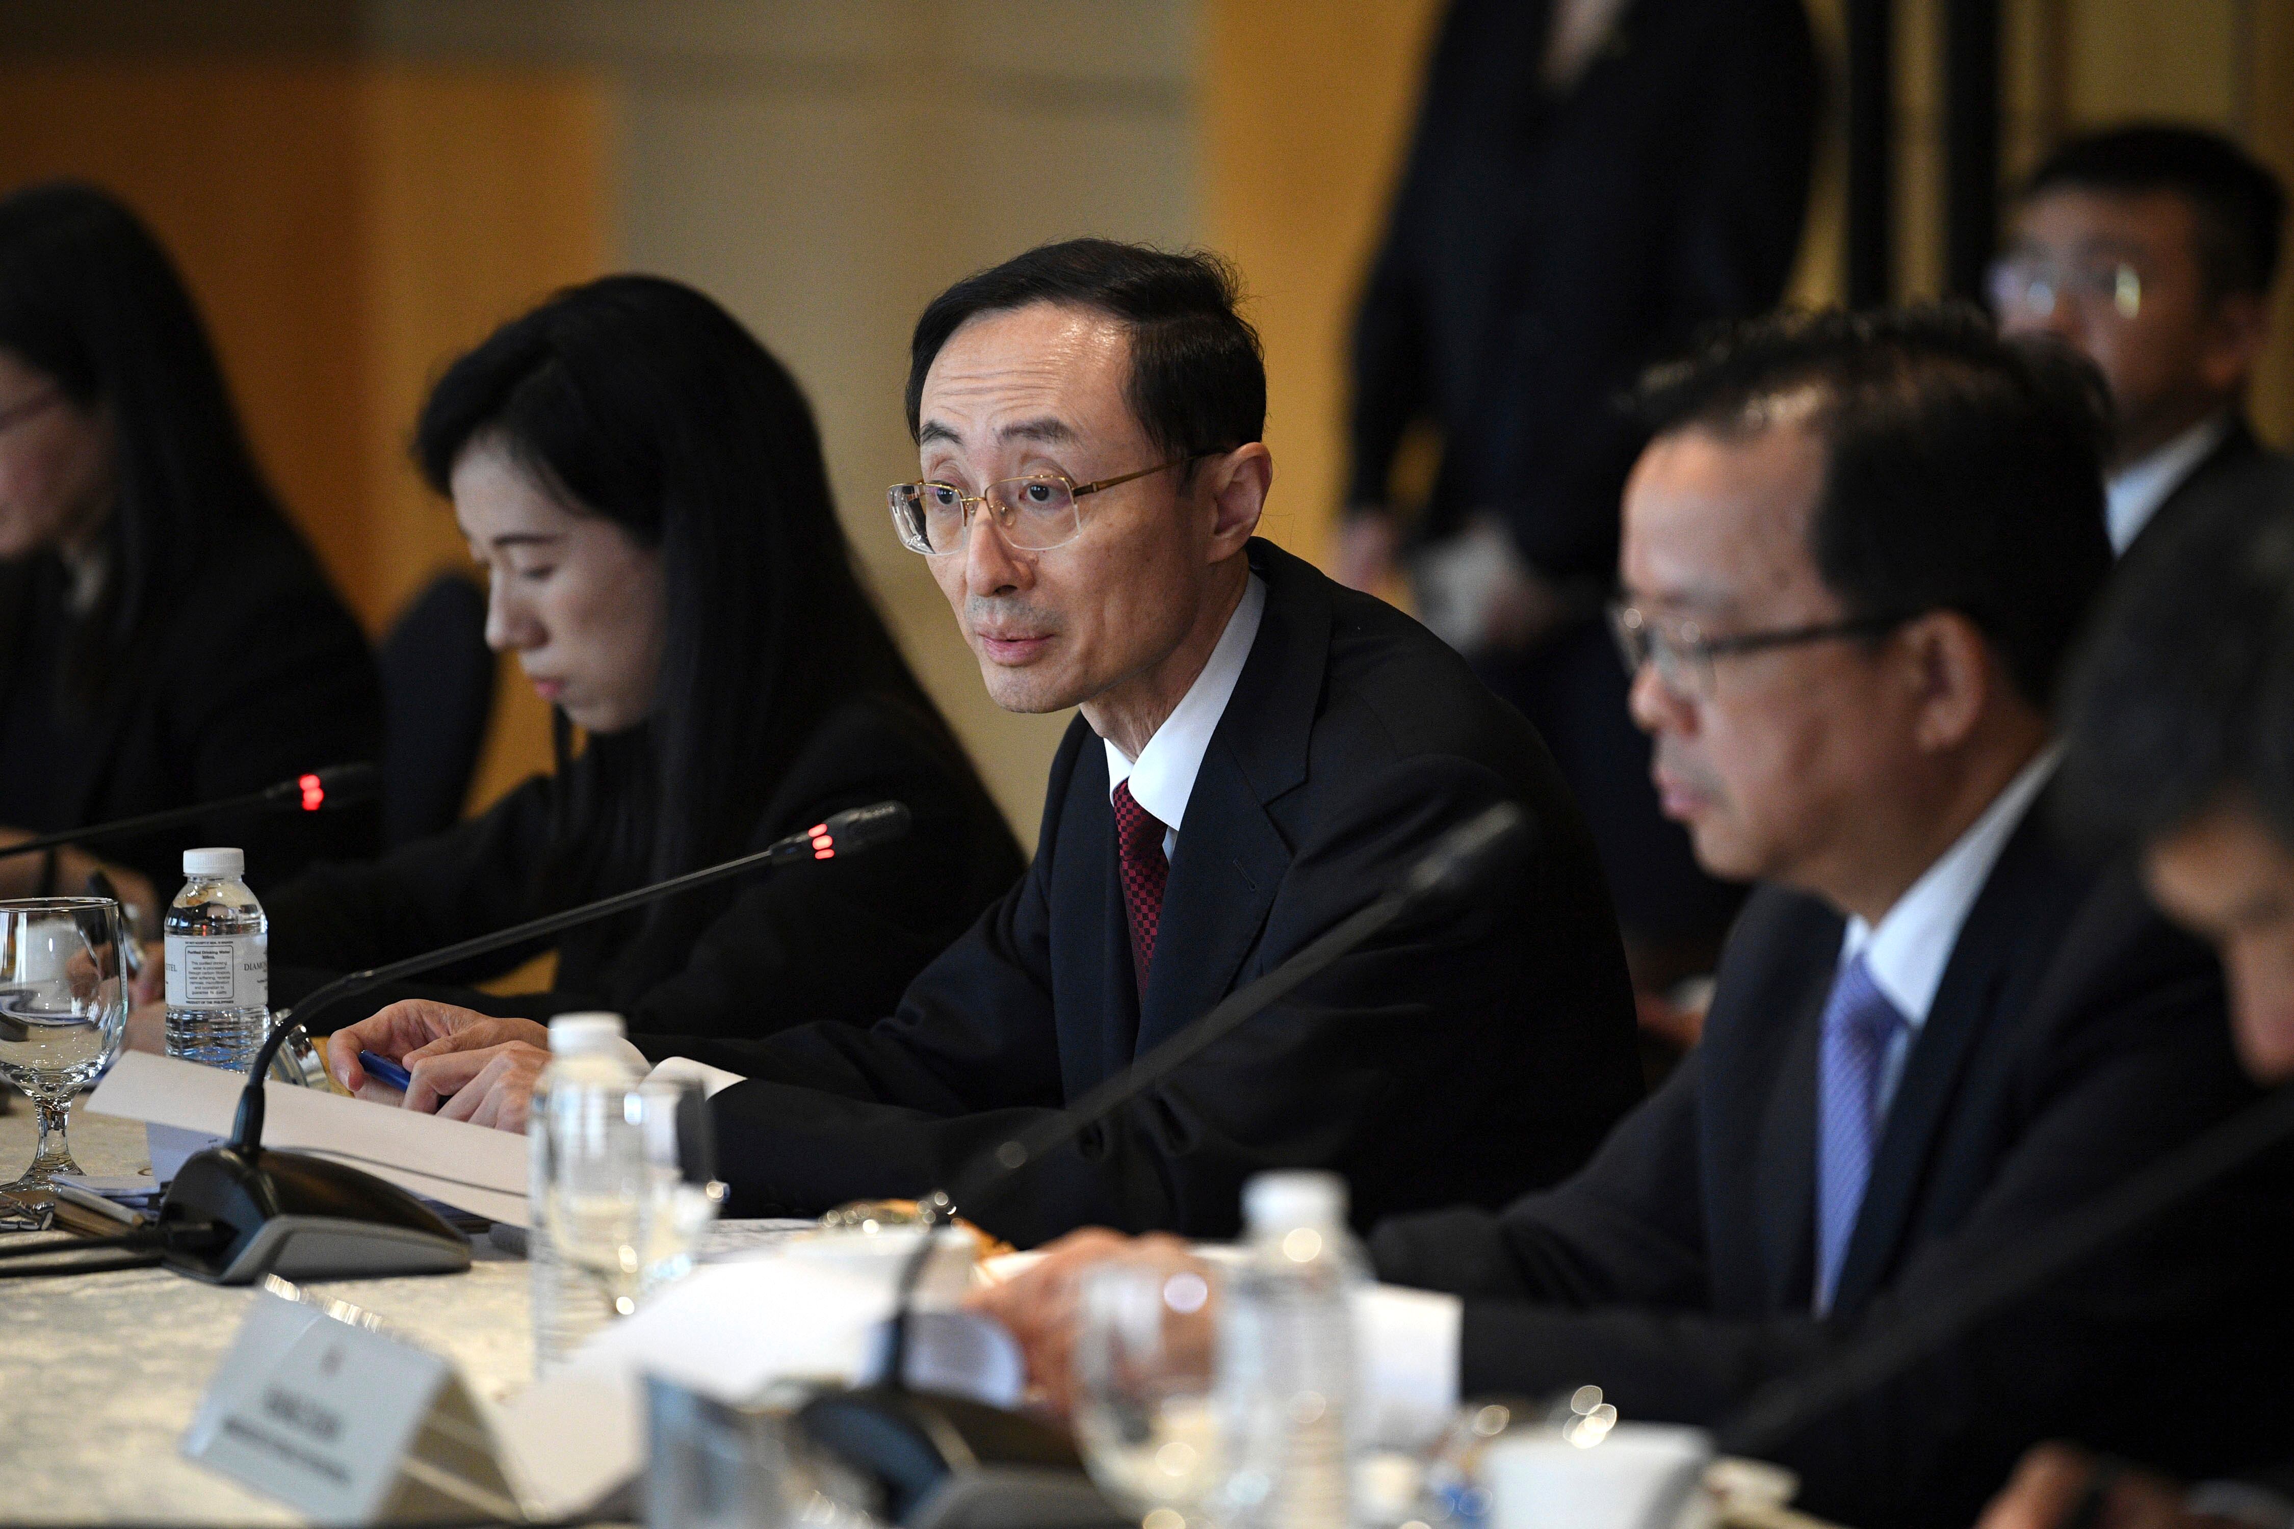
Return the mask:
<svg viewBox="0 0 2294 1529">
<path fill-rule="evenodd" d="M 1028 876 L 872 1029 L 640 1041 L 748 1075 L 716 1096 L 734 1210 L 947 1185 L 1014 1130 L 1259 977 L 1500 798 L 1528 860 L 1404 919 L 1078 1146 L 963 1208 L 1016 1242 L 1101 1222 L 1227 1236 L 1243 1181 L 1331 1167 L 1358 1220 L 1551 1183 L 1640 1096 L 1585 830 L 1537 734 L 1390 605 L 1255 541 L 1266 612 L 1186 805 L 1145 999 L 1106 752 L 1078 718 Z"/>
</svg>

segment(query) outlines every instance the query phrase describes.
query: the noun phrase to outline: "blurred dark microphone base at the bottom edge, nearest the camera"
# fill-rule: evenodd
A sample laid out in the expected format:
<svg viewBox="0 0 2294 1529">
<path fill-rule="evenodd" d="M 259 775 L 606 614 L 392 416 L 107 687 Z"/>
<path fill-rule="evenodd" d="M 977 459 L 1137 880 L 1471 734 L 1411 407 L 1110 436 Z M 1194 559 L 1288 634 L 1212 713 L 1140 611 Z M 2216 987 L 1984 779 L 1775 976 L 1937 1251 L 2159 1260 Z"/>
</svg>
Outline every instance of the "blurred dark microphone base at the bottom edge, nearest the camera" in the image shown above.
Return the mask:
<svg viewBox="0 0 2294 1529">
<path fill-rule="evenodd" d="M 876 1497 L 904 1529 L 1115 1529 L 1067 1435 L 963 1396 L 860 1387 L 824 1391 L 796 1412 L 819 1456 Z"/>
</svg>

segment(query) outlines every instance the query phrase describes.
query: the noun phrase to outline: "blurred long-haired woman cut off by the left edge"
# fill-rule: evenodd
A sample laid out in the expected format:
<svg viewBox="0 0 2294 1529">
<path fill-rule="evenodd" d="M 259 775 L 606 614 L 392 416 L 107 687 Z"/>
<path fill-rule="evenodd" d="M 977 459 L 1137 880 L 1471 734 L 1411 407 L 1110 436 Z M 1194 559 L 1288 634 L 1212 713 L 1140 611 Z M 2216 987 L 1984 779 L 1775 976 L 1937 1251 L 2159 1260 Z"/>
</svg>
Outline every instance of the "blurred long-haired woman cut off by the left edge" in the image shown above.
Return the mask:
<svg viewBox="0 0 2294 1529">
<path fill-rule="evenodd" d="M 92 186 L 0 199 L 0 846 L 381 747 L 367 640 L 255 465 L 165 250 Z M 379 828 L 372 807 L 218 816 L 0 860 L 0 896 L 78 894 L 101 867 L 151 933 L 188 846 L 243 846 L 268 892 Z"/>
</svg>

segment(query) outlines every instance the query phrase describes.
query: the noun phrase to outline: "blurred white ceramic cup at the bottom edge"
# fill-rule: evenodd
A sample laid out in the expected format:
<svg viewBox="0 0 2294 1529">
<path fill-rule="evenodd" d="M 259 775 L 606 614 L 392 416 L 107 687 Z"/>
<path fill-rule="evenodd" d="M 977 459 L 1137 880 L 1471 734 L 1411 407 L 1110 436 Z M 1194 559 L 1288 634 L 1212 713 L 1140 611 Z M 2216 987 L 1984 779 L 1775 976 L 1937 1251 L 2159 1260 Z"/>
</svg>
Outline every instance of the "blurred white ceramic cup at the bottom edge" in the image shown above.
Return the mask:
<svg viewBox="0 0 2294 1529">
<path fill-rule="evenodd" d="M 1714 1442 L 1702 1428 L 1617 1424 L 1585 1449 L 1553 1433 L 1498 1440 L 1482 1456 L 1491 1529 L 1704 1529 Z"/>
</svg>

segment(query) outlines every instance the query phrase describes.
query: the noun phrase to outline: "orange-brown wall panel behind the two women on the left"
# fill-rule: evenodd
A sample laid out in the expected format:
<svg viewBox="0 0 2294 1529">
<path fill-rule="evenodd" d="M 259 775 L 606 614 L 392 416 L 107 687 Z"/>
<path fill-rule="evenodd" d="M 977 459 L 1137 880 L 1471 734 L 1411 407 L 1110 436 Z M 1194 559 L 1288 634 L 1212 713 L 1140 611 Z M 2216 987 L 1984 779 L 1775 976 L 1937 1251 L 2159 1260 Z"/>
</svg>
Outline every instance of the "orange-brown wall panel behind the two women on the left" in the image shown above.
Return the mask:
<svg viewBox="0 0 2294 1529">
<path fill-rule="evenodd" d="M 122 195 L 177 257 L 257 458 L 379 633 L 466 566 L 406 461 L 424 385 L 606 264 L 606 101 L 564 73 L 287 60 L 0 64 L 0 186 Z M 505 662 L 473 802 L 548 759 Z"/>
</svg>

